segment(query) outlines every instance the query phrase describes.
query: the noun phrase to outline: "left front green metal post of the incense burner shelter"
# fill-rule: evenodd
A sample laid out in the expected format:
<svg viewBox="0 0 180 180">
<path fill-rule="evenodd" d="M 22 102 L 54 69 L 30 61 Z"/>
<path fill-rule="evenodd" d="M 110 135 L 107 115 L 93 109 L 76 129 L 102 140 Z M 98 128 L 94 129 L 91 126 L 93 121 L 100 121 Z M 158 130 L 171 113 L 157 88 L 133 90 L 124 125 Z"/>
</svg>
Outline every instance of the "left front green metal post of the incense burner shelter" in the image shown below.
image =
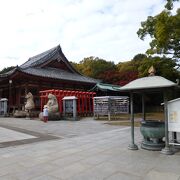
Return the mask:
<svg viewBox="0 0 180 180">
<path fill-rule="evenodd" d="M 134 107 L 133 107 L 133 92 L 130 92 L 130 108 L 131 108 L 131 144 L 128 149 L 138 150 L 138 146 L 134 143 Z"/>
</svg>

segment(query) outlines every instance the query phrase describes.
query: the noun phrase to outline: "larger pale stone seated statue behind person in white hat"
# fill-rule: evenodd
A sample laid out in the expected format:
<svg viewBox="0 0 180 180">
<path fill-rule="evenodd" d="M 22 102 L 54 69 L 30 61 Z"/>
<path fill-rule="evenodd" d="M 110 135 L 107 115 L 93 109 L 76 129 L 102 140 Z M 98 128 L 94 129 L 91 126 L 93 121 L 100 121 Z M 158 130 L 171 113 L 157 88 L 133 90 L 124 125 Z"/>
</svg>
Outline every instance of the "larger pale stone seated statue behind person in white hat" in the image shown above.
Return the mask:
<svg viewBox="0 0 180 180">
<path fill-rule="evenodd" d="M 56 113 L 58 112 L 58 102 L 55 95 L 49 93 L 48 94 L 48 102 L 45 105 L 48 108 L 49 113 Z"/>
</svg>

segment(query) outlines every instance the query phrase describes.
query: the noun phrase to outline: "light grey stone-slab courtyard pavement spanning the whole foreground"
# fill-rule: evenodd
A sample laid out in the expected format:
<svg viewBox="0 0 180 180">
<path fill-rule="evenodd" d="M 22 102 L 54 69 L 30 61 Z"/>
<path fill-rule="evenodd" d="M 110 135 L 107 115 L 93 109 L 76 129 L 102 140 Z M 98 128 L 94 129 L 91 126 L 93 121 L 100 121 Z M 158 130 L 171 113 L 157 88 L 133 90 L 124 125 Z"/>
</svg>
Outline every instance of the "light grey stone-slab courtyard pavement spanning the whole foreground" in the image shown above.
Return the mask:
<svg viewBox="0 0 180 180">
<path fill-rule="evenodd" d="M 27 134 L 16 134 L 16 128 L 7 129 L 11 135 L 14 131 L 14 138 L 22 133 L 22 138 L 36 139 L 39 133 L 57 139 L 0 148 L 0 180 L 180 180 L 180 152 L 167 156 L 142 149 L 128 150 L 130 127 L 91 119 L 47 124 L 24 120 L 20 125 L 22 121 L 0 119 L 4 137 L 5 126 L 12 126 L 27 130 Z M 29 136 L 33 131 L 33 137 Z M 139 128 L 135 129 L 135 139 L 140 147 Z"/>
</svg>

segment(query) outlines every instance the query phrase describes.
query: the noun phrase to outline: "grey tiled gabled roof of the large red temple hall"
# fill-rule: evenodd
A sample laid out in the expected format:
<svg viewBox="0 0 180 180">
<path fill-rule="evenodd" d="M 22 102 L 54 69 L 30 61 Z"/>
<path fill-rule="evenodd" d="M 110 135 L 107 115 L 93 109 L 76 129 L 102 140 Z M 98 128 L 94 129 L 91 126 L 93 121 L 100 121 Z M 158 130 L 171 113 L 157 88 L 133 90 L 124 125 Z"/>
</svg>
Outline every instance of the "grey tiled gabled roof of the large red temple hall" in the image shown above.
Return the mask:
<svg viewBox="0 0 180 180">
<path fill-rule="evenodd" d="M 51 63 L 55 60 L 58 60 L 59 62 L 63 61 L 69 71 L 65 71 L 60 68 L 48 67 L 48 63 Z M 9 77 L 17 71 L 29 75 L 51 79 L 77 81 L 92 84 L 96 84 L 98 82 L 96 79 L 81 75 L 76 69 L 74 69 L 74 67 L 69 63 L 63 54 L 60 45 L 29 58 L 28 61 L 23 63 L 21 66 L 17 66 L 15 69 L 1 74 L 0 77 Z"/>
</svg>

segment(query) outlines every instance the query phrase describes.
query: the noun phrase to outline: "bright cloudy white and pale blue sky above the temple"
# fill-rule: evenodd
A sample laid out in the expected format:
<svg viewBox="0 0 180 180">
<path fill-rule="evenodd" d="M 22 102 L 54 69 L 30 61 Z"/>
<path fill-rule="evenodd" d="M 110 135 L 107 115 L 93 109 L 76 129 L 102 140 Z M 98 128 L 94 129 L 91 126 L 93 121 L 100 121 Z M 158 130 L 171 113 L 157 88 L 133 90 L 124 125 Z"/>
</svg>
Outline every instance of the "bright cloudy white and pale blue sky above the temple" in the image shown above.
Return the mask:
<svg viewBox="0 0 180 180">
<path fill-rule="evenodd" d="M 96 56 L 115 63 L 148 48 L 136 32 L 163 0 L 0 1 L 0 69 L 61 45 L 69 61 Z M 176 4 L 178 6 L 179 4 Z"/>
</svg>

